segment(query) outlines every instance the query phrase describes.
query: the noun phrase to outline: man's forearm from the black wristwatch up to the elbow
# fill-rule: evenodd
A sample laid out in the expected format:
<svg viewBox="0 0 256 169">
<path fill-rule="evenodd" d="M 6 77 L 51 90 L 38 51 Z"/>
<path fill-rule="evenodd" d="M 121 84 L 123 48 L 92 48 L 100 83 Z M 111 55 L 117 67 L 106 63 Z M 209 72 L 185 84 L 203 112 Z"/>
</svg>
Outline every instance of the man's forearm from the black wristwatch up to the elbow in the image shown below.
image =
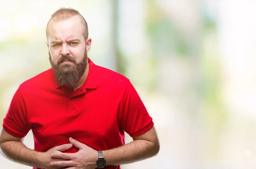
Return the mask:
<svg viewBox="0 0 256 169">
<path fill-rule="evenodd" d="M 103 151 L 108 166 L 134 163 L 156 155 L 159 144 L 150 141 L 135 140 L 124 146 Z"/>
</svg>

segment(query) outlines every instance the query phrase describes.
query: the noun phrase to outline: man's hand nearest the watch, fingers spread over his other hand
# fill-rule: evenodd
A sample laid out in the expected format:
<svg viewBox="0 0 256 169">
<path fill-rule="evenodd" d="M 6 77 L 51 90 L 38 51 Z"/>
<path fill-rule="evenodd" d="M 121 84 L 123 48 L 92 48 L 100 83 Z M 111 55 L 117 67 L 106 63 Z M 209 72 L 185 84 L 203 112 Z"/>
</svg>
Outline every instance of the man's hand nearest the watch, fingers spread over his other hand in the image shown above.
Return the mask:
<svg viewBox="0 0 256 169">
<path fill-rule="evenodd" d="M 98 152 L 91 147 L 70 138 L 70 143 L 79 148 L 76 153 L 52 152 L 52 158 L 62 158 L 69 161 L 52 161 L 52 167 L 67 167 L 66 169 L 95 169 Z"/>
</svg>

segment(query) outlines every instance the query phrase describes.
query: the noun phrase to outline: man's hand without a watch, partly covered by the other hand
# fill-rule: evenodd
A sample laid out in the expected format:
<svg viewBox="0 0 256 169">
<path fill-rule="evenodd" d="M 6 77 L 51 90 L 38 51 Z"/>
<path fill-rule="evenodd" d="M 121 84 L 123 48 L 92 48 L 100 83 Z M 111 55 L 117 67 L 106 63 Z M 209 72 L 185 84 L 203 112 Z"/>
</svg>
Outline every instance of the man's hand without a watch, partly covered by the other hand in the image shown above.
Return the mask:
<svg viewBox="0 0 256 169">
<path fill-rule="evenodd" d="M 44 152 L 43 155 L 43 168 L 44 169 L 63 169 L 64 167 L 52 167 L 50 166 L 51 161 L 63 161 L 63 159 L 57 158 L 57 157 L 51 157 L 51 154 L 58 154 L 62 153 L 63 151 L 70 149 L 73 145 L 72 144 L 62 144 L 60 146 L 55 146 L 49 149 L 47 152 Z"/>
</svg>

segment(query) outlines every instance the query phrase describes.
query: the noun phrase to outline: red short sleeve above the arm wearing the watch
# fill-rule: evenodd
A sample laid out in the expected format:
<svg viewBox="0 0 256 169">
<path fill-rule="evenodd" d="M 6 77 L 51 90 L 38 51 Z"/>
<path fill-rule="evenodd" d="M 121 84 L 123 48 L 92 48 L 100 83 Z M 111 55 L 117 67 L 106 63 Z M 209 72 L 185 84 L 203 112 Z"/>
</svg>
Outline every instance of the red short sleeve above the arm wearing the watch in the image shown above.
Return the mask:
<svg viewBox="0 0 256 169">
<path fill-rule="evenodd" d="M 123 130 L 131 137 L 136 137 L 147 132 L 154 125 L 143 101 L 140 99 L 131 82 L 128 83 L 125 90 L 122 122 Z"/>
</svg>

